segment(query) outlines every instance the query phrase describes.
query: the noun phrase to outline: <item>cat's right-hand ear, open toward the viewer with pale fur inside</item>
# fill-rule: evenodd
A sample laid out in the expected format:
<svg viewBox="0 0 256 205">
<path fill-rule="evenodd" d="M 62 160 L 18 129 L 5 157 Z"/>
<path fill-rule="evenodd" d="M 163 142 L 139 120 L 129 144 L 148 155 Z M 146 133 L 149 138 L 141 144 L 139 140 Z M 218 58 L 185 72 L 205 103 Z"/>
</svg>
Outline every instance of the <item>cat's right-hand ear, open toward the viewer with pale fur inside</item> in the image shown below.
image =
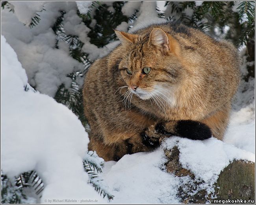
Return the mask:
<svg viewBox="0 0 256 205">
<path fill-rule="evenodd" d="M 153 44 L 161 50 L 170 50 L 170 44 L 167 34 L 161 28 L 154 28 L 151 31 L 149 43 Z"/>
</svg>

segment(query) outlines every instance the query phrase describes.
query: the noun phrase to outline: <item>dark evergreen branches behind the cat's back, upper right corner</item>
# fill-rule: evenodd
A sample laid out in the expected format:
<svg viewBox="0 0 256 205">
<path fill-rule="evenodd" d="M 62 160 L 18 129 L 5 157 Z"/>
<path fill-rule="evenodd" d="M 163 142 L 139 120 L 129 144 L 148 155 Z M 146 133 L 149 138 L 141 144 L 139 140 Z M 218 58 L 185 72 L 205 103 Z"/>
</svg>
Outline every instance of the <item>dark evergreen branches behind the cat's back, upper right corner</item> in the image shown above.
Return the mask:
<svg viewBox="0 0 256 205">
<path fill-rule="evenodd" d="M 247 44 L 249 38 L 254 37 L 254 2 L 241 2 L 237 7 L 238 12 L 232 10 L 234 2 L 203 2 L 201 6 L 196 6 L 195 2 L 166 2 L 168 5 L 171 6 L 171 14 L 177 13 L 178 19 L 172 16 L 169 18 L 203 30 L 211 36 L 215 36 L 214 28 L 229 26 L 230 30 L 224 38 L 231 39 L 236 46 Z M 187 8 L 193 9 L 191 17 L 185 12 Z M 241 23 L 244 14 L 247 14 L 248 22 Z"/>
</svg>

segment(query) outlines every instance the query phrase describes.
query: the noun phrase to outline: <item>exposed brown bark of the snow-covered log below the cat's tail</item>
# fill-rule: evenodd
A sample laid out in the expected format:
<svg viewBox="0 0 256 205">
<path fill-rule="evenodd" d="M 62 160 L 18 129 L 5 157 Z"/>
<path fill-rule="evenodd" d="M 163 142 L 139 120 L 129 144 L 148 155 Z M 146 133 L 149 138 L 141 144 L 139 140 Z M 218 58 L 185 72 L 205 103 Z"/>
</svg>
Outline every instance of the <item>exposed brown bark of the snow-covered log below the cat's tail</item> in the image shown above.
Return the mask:
<svg viewBox="0 0 256 205">
<path fill-rule="evenodd" d="M 255 163 L 238 160 L 230 163 L 221 171 L 214 185 L 214 193 L 208 194 L 206 190 L 200 189 L 204 183 L 195 180 L 195 175 L 182 167 L 179 162 L 180 151 L 178 147 L 165 150 L 167 172 L 178 177 L 189 176 L 191 181 L 178 188 L 178 196 L 183 203 L 214 203 L 214 200 L 236 200 L 255 199 Z M 198 190 L 198 191 L 197 191 Z M 194 192 L 191 194 L 191 192 Z"/>
</svg>

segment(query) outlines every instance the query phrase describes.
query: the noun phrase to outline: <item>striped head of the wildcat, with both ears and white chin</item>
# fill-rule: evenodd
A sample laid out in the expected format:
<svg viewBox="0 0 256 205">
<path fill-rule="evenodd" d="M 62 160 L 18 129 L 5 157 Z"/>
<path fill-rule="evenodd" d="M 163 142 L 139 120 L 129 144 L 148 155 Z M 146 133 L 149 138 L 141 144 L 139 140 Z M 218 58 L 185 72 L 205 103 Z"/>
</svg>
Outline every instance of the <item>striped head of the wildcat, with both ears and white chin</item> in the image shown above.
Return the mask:
<svg viewBox="0 0 256 205">
<path fill-rule="evenodd" d="M 119 70 L 128 89 L 143 100 L 169 97 L 182 78 L 179 43 L 161 28 L 141 35 L 115 33 L 122 46 Z"/>
</svg>

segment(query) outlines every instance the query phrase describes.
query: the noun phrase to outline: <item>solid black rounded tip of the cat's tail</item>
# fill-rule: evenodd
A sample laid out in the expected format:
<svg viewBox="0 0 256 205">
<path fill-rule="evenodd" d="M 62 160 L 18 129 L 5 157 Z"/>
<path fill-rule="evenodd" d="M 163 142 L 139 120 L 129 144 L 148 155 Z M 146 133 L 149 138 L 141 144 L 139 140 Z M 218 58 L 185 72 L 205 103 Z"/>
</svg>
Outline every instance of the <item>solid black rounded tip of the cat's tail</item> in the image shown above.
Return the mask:
<svg viewBox="0 0 256 205">
<path fill-rule="evenodd" d="M 210 127 L 198 121 L 179 120 L 175 129 L 178 136 L 192 140 L 205 140 L 211 137 Z"/>
</svg>

